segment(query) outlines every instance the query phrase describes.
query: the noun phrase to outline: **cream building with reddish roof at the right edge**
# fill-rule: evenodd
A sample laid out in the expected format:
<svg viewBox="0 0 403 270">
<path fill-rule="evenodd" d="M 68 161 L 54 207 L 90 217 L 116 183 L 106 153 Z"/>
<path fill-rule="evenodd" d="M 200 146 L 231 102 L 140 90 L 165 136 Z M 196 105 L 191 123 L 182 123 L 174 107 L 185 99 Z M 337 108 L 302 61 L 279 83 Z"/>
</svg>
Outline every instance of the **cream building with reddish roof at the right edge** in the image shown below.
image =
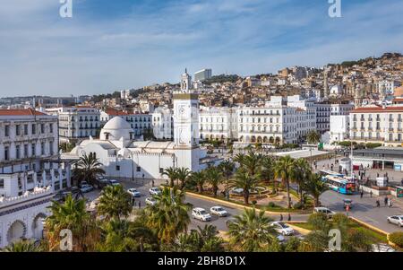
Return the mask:
<svg viewBox="0 0 403 270">
<path fill-rule="evenodd" d="M 403 107 L 368 106 L 351 111 L 350 138 L 357 143 L 403 146 Z"/>
</svg>

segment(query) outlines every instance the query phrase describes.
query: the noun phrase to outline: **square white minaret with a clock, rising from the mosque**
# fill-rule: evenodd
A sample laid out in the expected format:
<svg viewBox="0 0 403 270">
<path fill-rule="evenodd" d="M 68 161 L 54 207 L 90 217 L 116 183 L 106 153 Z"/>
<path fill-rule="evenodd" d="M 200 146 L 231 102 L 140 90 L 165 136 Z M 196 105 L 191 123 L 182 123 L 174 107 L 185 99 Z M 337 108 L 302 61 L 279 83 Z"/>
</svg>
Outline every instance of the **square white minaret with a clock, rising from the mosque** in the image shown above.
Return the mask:
<svg viewBox="0 0 403 270">
<path fill-rule="evenodd" d="M 174 91 L 174 143 L 176 167 L 199 170 L 199 97 L 185 70 L 180 91 Z"/>
</svg>

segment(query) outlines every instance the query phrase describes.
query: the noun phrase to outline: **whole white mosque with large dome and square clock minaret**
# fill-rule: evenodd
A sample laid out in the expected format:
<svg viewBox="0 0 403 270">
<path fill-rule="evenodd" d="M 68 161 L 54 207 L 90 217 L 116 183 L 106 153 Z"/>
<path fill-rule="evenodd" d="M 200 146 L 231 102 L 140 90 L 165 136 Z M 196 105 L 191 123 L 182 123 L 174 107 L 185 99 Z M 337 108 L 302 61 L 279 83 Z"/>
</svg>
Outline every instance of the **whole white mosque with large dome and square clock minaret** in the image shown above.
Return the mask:
<svg viewBox="0 0 403 270">
<path fill-rule="evenodd" d="M 110 119 L 99 139 L 81 142 L 71 154 L 94 153 L 109 178 L 163 179 L 169 167 L 199 171 L 211 159 L 199 145 L 199 100 L 192 77 L 182 75 L 181 90 L 174 92 L 174 141 L 134 141 L 133 128 L 123 118 Z M 214 161 L 212 161 L 214 162 Z"/>
</svg>

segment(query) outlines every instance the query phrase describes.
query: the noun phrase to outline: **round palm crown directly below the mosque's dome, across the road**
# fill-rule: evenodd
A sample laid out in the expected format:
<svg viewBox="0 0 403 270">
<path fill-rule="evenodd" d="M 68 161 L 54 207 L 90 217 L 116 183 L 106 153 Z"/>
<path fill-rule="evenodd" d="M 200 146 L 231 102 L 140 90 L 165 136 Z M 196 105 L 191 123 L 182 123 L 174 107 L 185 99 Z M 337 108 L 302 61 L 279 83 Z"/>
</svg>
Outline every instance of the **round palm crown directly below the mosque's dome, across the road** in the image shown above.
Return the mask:
<svg viewBox="0 0 403 270">
<path fill-rule="evenodd" d="M 108 221 L 120 220 L 132 212 L 132 196 L 122 186 L 108 186 L 102 190 L 97 211 Z"/>
</svg>

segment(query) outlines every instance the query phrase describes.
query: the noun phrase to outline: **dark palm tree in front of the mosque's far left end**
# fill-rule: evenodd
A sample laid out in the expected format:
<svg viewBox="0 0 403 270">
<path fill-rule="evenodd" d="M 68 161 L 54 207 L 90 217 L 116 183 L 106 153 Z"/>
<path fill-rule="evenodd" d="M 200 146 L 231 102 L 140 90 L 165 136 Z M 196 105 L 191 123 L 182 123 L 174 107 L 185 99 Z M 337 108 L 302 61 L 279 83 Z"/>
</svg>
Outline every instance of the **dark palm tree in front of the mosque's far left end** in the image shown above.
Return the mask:
<svg viewBox="0 0 403 270">
<path fill-rule="evenodd" d="M 99 177 L 105 174 L 105 170 L 102 168 L 102 163 L 99 162 L 95 154 L 84 154 L 78 161 L 75 162 L 75 168 L 73 169 L 73 179 L 77 181 L 77 186 L 81 181 L 85 180 L 91 185 L 97 185 L 99 187 Z"/>
</svg>

